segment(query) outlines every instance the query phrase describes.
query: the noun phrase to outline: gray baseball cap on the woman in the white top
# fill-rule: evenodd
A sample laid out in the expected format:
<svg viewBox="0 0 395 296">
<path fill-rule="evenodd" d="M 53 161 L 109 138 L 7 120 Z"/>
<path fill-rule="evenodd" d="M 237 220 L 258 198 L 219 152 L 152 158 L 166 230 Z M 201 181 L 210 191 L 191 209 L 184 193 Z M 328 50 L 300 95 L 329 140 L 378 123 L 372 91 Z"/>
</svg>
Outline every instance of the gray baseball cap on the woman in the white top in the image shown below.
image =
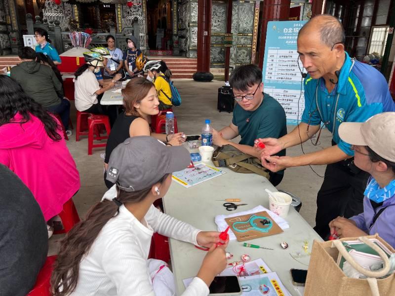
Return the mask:
<svg viewBox="0 0 395 296">
<path fill-rule="evenodd" d="M 131 192 L 147 189 L 166 174 L 185 169 L 191 162 L 182 146 L 165 146 L 149 136 L 126 139 L 113 150 L 107 180 Z"/>
</svg>

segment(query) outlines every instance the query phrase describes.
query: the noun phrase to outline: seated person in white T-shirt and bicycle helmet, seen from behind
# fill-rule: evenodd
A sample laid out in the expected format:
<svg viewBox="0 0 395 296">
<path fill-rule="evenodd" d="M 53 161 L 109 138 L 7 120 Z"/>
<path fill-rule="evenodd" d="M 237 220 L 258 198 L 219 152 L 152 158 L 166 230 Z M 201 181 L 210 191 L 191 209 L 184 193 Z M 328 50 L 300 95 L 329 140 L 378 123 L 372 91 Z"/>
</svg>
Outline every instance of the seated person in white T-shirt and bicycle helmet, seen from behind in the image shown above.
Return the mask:
<svg viewBox="0 0 395 296">
<path fill-rule="evenodd" d="M 108 115 L 110 125 L 113 126 L 117 119 L 117 107 L 102 106 L 100 100 L 106 90 L 114 87 L 115 82 L 111 81 L 107 86 L 101 88 L 95 73 L 100 72 L 100 68 L 104 67 L 103 57 L 92 51 L 84 52 L 83 56 L 86 64 L 77 69 L 74 79 L 76 109 L 81 112 Z"/>
</svg>

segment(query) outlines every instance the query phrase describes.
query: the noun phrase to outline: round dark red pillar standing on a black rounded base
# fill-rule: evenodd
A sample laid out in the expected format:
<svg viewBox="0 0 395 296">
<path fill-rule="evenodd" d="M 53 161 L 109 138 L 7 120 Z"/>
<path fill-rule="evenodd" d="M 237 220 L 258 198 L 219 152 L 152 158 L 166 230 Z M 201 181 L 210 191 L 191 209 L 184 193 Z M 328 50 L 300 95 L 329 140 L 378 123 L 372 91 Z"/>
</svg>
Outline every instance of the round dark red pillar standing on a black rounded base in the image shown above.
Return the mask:
<svg viewBox="0 0 395 296">
<path fill-rule="evenodd" d="M 210 43 L 211 43 L 211 0 L 197 2 L 197 72 L 196 81 L 211 81 L 214 75 L 210 73 Z"/>
</svg>

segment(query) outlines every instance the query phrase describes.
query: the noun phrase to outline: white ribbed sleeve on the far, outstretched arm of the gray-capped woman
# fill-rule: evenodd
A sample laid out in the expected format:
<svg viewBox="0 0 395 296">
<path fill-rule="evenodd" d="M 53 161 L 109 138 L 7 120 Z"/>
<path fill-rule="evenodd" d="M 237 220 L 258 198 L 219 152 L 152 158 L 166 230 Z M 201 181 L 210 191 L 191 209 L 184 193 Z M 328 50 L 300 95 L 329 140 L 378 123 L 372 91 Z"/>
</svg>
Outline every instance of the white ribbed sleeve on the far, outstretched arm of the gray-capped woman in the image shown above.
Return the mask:
<svg viewBox="0 0 395 296">
<path fill-rule="evenodd" d="M 154 232 L 197 245 L 197 233 L 201 230 L 160 212 L 153 205 L 148 210 L 145 219 L 154 229 Z"/>
</svg>

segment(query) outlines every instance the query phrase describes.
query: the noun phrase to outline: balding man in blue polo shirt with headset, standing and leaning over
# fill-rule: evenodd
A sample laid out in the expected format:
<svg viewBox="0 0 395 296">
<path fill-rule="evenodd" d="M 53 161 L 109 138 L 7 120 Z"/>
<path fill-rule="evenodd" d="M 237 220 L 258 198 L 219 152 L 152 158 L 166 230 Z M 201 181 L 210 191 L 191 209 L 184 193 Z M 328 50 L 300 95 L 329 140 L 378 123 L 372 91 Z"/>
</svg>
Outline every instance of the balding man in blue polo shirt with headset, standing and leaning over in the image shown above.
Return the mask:
<svg viewBox="0 0 395 296">
<path fill-rule="evenodd" d="M 368 174 L 354 165 L 354 150 L 339 138 L 342 122 L 364 122 L 383 111 L 395 111 L 384 76 L 373 67 L 350 58 L 344 50 L 342 24 L 333 16 L 312 18 L 299 32 L 298 53 L 307 70 L 305 110 L 301 123 L 279 138 L 261 139 L 262 165 L 276 172 L 304 165 L 324 165 L 324 181 L 317 194 L 316 232 L 325 239 L 328 223 L 363 211 L 363 190 Z M 321 125 L 332 133 L 332 146 L 296 157 L 273 155 L 300 145 L 316 135 Z M 273 156 L 271 156 L 273 155 Z"/>
</svg>

